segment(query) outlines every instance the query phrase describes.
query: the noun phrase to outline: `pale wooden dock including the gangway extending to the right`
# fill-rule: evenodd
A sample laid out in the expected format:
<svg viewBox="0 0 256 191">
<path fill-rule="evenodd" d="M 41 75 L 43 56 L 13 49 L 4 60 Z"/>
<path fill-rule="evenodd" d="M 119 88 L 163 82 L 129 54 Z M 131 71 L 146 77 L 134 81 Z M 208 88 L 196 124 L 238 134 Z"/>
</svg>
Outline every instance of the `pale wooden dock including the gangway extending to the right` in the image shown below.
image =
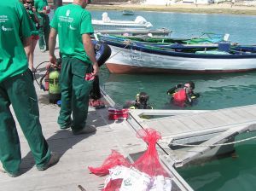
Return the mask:
<svg viewBox="0 0 256 191">
<path fill-rule="evenodd" d="M 36 49 L 36 66 L 48 60 L 48 53 Z M 45 72 L 44 67 L 38 69 L 37 78 Z M 172 190 L 193 190 L 180 177 L 173 165 L 181 155 L 177 155 L 168 147 L 172 141 L 188 142 L 188 137 L 201 138 L 202 135 L 221 133 L 224 130 L 256 124 L 256 105 L 234 107 L 214 111 L 163 111 L 163 110 L 133 110 L 127 121 L 108 120 L 108 109 L 90 107 L 88 124 L 96 125 L 96 133 L 92 135 L 73 136 L 71 130 L 60 130 L 56 123 L 60 108 L 48 103 L 48 93 L 39 90 L 38 93 L 40 120 L 44 136 L 52 151 L 61 153 L 59 163 L 46 171 L 38 171 L 34 165 L 32 154 L 26 139 L 20 131 L 20 147 L 22 163 L 20 177 L 11 178 L 0 173 L 1 191 L 75 191 L 81 185 L 87 191 L 101 190 L 106 177 L 96 177 L 90 174 L 88 166 L 100 166 L 112 149 L 119 151 L 127 159 L 136 159 L 146 150 L 145 143 L 138 139 L 136 131 L 142 128 L 154 128 L 160 131 L 163 139 L 159 142 L 160 159 L 172 174 Z M 110 105 L 113 101 L 107 95 Z M 142 119 L 141 115 L 166 115 L 154 119 Z M 177 158 L 175 158 L 177 157 Z"/>
</svg>

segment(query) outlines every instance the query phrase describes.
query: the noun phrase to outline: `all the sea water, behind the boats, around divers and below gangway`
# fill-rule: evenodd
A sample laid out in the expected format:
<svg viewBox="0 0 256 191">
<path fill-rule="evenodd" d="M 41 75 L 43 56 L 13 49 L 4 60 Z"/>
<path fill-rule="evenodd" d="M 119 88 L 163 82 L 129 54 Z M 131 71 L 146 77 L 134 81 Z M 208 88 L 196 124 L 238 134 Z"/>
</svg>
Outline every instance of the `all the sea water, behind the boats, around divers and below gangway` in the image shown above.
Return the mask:
<svg viewBox="0 0 256 191">
<path fill-rule="evenodd" d="M 91 11 L 93 19 L 102 19 L 102 11 Z M 108 11 L 112 20 L 134 20 L 142 15 L 155 28 L 165 27 L 172 37 L 198 37 L 201 32 L 229 33 L 230 41 L 256 44 L 256 16 L 229 14 L 179 14 L 136 12 L 124 16 L 121 11 Z M 155 109 L 220 109 L 256 104 L 256 72 L 230 74 L 111 74 L 101 69 L 101 84 L 113 101 L 124 105 L 145 91 Z M 192 107 L 175 107 L 166 91 L 175 84 L 195 82 L 195 92 L 201 94 Z M 255 111 L 256 112 L 256 111 Z M 254 135 L 255 136 L 255 135 Z M 238 138 L 238 137 L 237 137 Z M 242 138 L 242 137 L 241 137 Z M 256 188 L 256 144 L 236 144 L 236 153 L 223 159 L 178 169 L 195 190 L 200 191 L 254 191 Z"/>
</svg>

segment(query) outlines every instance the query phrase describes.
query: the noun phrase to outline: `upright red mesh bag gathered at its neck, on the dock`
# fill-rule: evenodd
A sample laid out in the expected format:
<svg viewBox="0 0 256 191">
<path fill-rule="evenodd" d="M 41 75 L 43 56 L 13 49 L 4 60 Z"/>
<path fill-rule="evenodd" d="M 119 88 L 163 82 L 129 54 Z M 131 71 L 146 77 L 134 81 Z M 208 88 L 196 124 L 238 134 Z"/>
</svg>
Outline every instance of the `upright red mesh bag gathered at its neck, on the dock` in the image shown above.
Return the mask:
<svg viewBox="0 0 256 191">
<path fill-rule="evenodd" d="M 146 129 L 137 131 L 137 137 L 142 138 L 148 143 L 148 149 L 143 155 L 133 164 L 139 171 L 147 173 L 150 177 L 162 175 L 170 177 L 166 170 L 160 164 L 159 156 L 155 148 L 156 142 L 161 138 L 160 132 L 154 129 Z"/>
</svg>

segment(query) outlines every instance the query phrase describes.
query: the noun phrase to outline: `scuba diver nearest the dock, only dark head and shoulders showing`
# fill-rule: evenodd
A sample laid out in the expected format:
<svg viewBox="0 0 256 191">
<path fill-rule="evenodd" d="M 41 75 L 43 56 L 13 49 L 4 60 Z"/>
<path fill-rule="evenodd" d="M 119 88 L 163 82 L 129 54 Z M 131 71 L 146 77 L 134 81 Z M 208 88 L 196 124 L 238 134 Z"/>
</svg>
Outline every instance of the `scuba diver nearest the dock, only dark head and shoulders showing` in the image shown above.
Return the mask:
<svg viewBox="0 0 256 191">
<path fill-rule="evenodd" d="M 149 96 L 145 92 L 141 92 L 136 95 L 135 101 L 127 101 L 125 108 L 130 109 L 153 109 L 153 107 L 148 106 Z"/>
</svg>

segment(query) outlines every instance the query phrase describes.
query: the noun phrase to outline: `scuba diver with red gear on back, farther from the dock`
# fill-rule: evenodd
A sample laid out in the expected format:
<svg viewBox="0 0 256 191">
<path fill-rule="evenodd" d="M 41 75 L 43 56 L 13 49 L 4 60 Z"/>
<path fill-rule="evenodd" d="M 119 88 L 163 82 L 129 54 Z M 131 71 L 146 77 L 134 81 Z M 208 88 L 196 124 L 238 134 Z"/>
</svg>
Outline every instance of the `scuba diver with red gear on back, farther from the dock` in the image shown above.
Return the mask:
<svg viewBox="0 0 256 191">
<path fill-rule="evenodd" d="M 177 84 L 172 89 L 167 90 L 167 94 L 172 96 L 171 101 L 180 107 L 192 106 L 193 101 L 200 96 L 194 92 L 195 83 L 189 81 L 185 84 Z"/>
</svg>

